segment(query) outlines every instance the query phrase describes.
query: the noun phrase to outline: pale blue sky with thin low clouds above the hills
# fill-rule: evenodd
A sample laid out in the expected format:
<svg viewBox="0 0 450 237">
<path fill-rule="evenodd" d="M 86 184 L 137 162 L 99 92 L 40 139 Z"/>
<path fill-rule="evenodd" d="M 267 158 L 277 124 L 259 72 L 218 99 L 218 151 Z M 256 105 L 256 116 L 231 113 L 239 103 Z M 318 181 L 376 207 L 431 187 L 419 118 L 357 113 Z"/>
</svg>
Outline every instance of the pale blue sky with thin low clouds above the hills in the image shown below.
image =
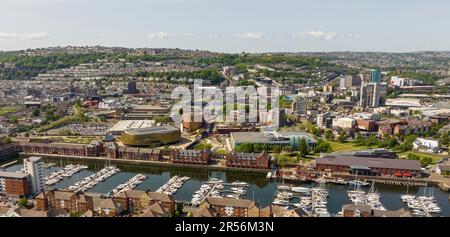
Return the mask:
<svg viewBox="0 0 450 237">
<path fill-rule="evenodd" d="M 450 50 L 448 0 L 0 0 L 0 50 Z"/>
</svg>

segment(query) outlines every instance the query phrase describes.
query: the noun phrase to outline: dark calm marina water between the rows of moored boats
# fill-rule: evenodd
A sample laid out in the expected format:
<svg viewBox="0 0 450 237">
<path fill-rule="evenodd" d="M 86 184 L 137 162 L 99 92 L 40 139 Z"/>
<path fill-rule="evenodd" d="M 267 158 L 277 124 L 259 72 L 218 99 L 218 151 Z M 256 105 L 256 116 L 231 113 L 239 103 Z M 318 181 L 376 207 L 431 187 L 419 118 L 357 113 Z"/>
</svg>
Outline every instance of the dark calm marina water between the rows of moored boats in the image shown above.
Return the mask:
<svg viewBox="0 0 450 237">
<path fill-rule="evenodd" d="M 45 159 L 45 162 L 53 162 L 57 165 L 46 170 L 47 174 L 53 171 L 61 169 L 67 164 L 86 164 L 89 166 L 88 170 L 83 170 L 71 178 L 66 178 L 59 183 L 55 184 L 54 188 L 65 188 L 74 184 L 78 180 L 95 173 L 96 171 L 102 169 L 105 166 L 103 162 L 88 161 L 88 162 L 77 162 L 73 159 L 61 158 Z M 137 173 L 146 174 L 149 178 L 143 183 L 138 185 L 136 189 L 138 190 L 156 190 L 165 184 L 172 176 L 189 176 L 191 177 L 181 189 L 175 194 L 175 198 L 178 201 L 190 201 L 192 195 L 200 188 L 205 181 L 209 178 L 219 178 L 223 179 L 225 182 L 235 182 L 243 181 L 250 184 L 247 189 L 247 194 L 243 196 L 245 199 L 255 200 L 261 204 L 261 207 L 266 207 L 270 205 L 275 198 L 275 192 L 277 191 L 277 181 L 266 180 L 265 174 L 257 173 L 239 173 L 239 172 L 221 172 L 221 171 L 211 171 L 202 169 L 185 169 L 185 168 L 169 168 L 169 167 L 148 167 L 143 165 L 129 165 L 129 164 L 118 164 L 122 171 L 108 178 L 106 181 L 101 182 L 94 186 L 89 192 L 96 193 L 108 193 L 110 190 L 115 188 L 121 183 L 125 183 L 131 177 Z M 6 168 L 8 171 L 18 171 L 23 168 L 21 160 L 16 164 Z M 296 186 L 312 187 L 315 184 L 296 184 Z M 351 203 L 348 196 L 347 190 L 350 188 L 343 185 L 327 184 L 326 188 L 329 190 L 328 199 L 328 211 L 330 213 L 336 214 L 341 210 L 342 205 Z M 381 194 L 382 204 L 389 210 L 395 210 L 402 207 L 407 208 L 407 206 L 401 201 L 400 195 L 406 193 L 406 187 L 403 186 L 389 186 L 389 185 L 376 185 L 376 190 Z M 449 193 L 441 191 L 439 188 L 428 187 L 426 193 L 432 192 L 442 209 L 442 216 L 450 216 L 450 201 Z M 409 194 L 419 194 L 424 193 L 424 188 L 410 188 L 408 190 Z"/>
</svg>

